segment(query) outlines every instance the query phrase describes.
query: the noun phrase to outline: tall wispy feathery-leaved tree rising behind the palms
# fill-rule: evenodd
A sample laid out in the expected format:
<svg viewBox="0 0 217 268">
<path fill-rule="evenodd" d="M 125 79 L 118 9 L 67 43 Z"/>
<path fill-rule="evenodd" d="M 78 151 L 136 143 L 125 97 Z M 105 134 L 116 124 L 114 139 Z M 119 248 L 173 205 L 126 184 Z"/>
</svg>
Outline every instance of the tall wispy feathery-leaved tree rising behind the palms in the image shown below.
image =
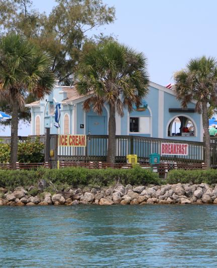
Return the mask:
<svg viewBox="0 0 217 268">
<path fill-rule="evenodd" d="M 0 0 L 4 33 L 14 31 L 47 51 L 52 57 L 52 70 L 65 84 L 71 83 L 83 44 L 93 41 L 89 32 L 114 19 L 114 7 L 101 0 L 56 0 L 49 15 L 33 9 L 30 0 Z"/>
</svg>

